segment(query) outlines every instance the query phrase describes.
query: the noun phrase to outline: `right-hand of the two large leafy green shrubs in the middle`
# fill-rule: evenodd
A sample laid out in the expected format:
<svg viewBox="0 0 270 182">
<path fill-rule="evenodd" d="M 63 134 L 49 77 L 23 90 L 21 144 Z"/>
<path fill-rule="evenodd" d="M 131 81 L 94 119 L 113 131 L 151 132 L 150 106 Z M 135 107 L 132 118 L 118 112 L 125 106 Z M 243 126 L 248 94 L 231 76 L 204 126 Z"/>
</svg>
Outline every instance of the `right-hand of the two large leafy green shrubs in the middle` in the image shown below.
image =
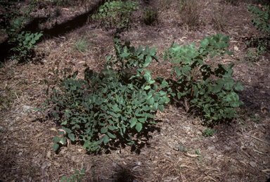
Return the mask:
<svg viewBox="0 0 270 182">
<path fill-rule="evenodd" d="M 169 88 L 172 96 L 177 94 L 177 98 L 183 100 L 187 112 L 189 109 L 200 111 L 207 124 L 236 117 L 235 108 L 243 104 L 235 92 L 243 91 L 243 85 L 231 78 L 234 64 L 231 63 L 228 67 L 219 64 L 213 69 L 203 63 L 209 54 L 210 58 L 231 55 L 232 52 L 226 50 L 228 42 L 229 37 L 222 34 L 207 36 L 200 41 L 198 49 L 195 44 L 184 47 L 174 44 L 163 57 L 177 64 L 173 68 L 176 82 L 168 83 L 163 80 L 160 87 Z"/>
</svg>

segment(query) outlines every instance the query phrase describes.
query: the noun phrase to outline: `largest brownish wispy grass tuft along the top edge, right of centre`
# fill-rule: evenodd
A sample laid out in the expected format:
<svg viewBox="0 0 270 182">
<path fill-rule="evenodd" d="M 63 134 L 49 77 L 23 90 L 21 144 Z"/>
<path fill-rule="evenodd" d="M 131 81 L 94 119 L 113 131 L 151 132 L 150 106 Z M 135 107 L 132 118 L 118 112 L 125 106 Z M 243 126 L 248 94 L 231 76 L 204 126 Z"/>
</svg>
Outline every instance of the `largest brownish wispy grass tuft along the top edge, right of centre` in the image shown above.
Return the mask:
<svg viewBox="0 0 270 182">
<path fill-rule="evenodd" d="M 199 25 L 200 12 L 203 10 L 202 1 L 179 0 L 179 15 L 186 27 L 195 29 Z"/>
</svg>

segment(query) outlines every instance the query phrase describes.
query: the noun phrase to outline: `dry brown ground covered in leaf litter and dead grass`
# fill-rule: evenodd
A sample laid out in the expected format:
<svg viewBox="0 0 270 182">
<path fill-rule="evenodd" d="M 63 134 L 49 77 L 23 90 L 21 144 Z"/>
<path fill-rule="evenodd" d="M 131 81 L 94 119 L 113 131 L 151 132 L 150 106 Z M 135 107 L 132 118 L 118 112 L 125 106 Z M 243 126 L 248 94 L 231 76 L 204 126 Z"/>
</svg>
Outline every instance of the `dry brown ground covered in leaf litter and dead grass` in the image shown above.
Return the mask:
<svg viewBox="0 0 270 182">
<path fill-rule="evenodd" d="M 87 167 L 83 181 L 267 181 L 270 55 L 264 53 L 256 62 L 247 58 L 245 44 L 260 35 L 252 27 L 248 3 L 241 1 L 238 6 L 224 1 L 205 3 L 196 30 L 183 25 L 176 1 L 160 13 L 158 22 L 152 26 L 144 25 L 141 10 L 136 11 L 130 29 L 121 34 L 122 41 L 130 39 L 136 47 L 139 44 L 156 47 L 160 63 L 153 63 L 150 70 L 155 76 L 170 77 L 172 64 L 162 60 L 162 55 L 172 42 L 199 44 L 207 35 L 228 34 L 232 40 L 229 50 L 234 51 L 234 56 L 206 61 L 211 65 L 236 63 L 233 78 L 245 87 L 240 93 L 240 100 L 245 103 L 238 110 L 240 117 L 214 126 L 214 136 L 205 137 L 202 131 L 206 126 L 200 124 L 200 118 L 187 115 L 181 105 L 167 105 L 165 112 L 155 116 L 158 124 L 148 127 L 136 147 L 119 147 L 94 155 L 79 143 L 70 143 L 56 154 L 52 139 L 60 126 L 53 119 L 42 118 L 39 112 L 25 113 L 25 110 L 43 103 L 47 87 L 44 81 L 53 79 L 50 69 L 71 67 L 82 71 L 82 65 L 87 64 L 96 72 L 101 70 L 106 56 L 113 53 L 115 32 L 88 19 L 84 7 L 72 6 L 72 11 L 60 9 L 60 17 L 39 23 L 45 36 L 37 44 L 39 50 L 33 60 L 12 68 L 12 60 L 6 58 L 1 67 L 0 181 L 60 181 L 61 176 L 71 176 L 73 169 L 83 167 Z M 139 6 L 142 9 L 145 4 L 141 2 Z M 229 25 L 223 32 L 212 22 L 217 6 L 224 7 L 229 17 Z M 48 12 L 56 11 L 49 3 L 42 7 L 33 16 L 46 17 Z M 82 16 L 76 19 L 79 15 Z M 74 46 L 83 37 L 89 43 L 89 52 L 79 53 Z M 82 76 L 80 73 L 79 77 Z M 188 152 L 178 149 L 181 144 Z"/>
</svg>

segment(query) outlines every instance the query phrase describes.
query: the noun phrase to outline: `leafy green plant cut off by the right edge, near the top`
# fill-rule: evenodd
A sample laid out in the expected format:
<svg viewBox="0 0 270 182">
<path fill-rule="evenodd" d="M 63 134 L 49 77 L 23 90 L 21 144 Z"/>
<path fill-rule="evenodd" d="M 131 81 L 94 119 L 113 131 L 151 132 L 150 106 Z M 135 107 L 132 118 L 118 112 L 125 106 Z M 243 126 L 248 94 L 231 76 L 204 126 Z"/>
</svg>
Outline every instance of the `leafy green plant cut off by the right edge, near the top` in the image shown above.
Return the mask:
<svg viewBox="0 0 270 182">
<path fill-rule="evenodd" d="M 262 38 L 256 37 L 252 41 L 248 42 L 248 46 L 257 46 L 257 53 L 262 55 L 262 53 L 269 49 L 269 35 L 270 35 L 270 6 L 264 6 L 264 11 L 261 11 L 255 6 L 247 6 L 248 11 L 252 13 L 253 27 L 257 27 L 257 30 L 264 33 Z"/>
</svg>

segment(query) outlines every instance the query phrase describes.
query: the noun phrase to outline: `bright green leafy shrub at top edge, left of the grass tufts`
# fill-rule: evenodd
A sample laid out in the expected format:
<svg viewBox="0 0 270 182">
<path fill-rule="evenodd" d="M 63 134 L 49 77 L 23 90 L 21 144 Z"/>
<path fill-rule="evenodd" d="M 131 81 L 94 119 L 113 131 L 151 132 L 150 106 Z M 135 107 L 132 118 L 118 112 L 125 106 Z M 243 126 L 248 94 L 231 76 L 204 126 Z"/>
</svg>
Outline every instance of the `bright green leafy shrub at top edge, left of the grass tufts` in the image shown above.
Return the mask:
<svg viewBox="0 0 270 182">
<path fill-rule="evenodd" d="M 108 27 L 128 27 L 132 11 L 139 9 L 138 1 L 108 1 L 99 8 L 97 15 L 92 18 L 98 18 Z"/>
</svg>

